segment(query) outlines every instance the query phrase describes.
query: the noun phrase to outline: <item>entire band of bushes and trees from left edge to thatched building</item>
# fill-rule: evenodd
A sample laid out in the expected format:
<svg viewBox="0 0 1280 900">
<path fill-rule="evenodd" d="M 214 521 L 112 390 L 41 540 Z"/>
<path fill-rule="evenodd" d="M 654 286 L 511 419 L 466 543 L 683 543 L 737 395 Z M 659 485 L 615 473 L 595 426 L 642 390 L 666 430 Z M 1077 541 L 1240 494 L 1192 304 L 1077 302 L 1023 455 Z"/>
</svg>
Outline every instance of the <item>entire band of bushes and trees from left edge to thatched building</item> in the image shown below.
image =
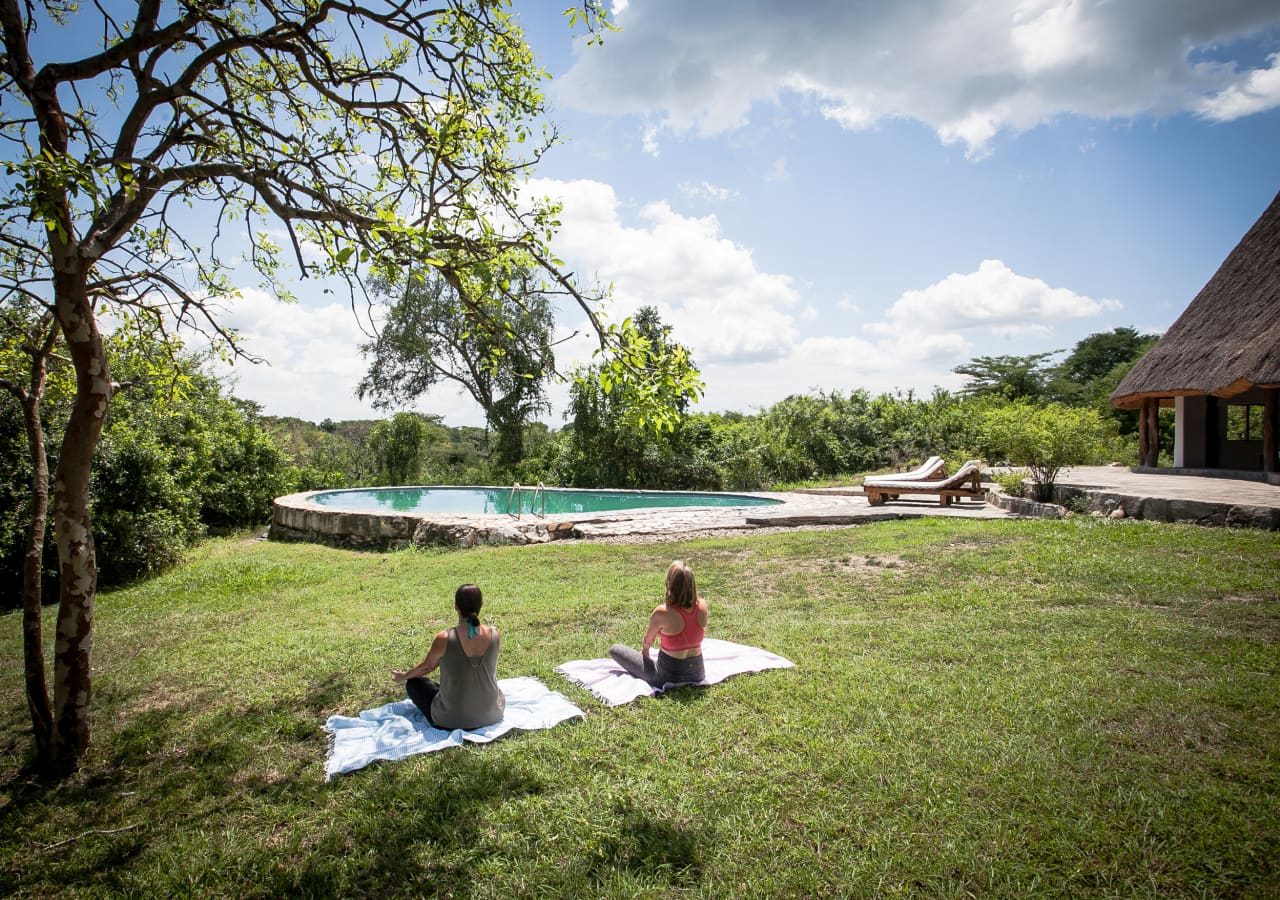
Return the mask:
<svg viewBox="0 0 1280 900">
<path fill-rule="evenodd" d="M 561 428 L 524 425 L 515 465 L 497 462 L 493 435 L 483 428 L 451 428 L 416 412 L 319 424 L 262 416 L 195 357 L 178 355 L 157 370 L 154 353 L 118 348 L 113 371 L 122 389 L 93 466 L 99 576 L 110 586 L 157 572 L 202 535 L 265 524 L 271 499 L 297 490 L 513 481 L 758 490 L 906 467 L 932 454 L 993 463 L 1009 447 L 986 424 L 992 411 L 1014 403 L 1065 411 L 1061 428 L 1101 428 L 1102 439 L 1091 444 L 1097 458 L 1078 462 L 1132 462 L 1135 422 L 1112 410 L 1107 397 L 1152 339 L 1116 329 L 1080 342 L 1056 365 L 1048 353 L 979 357 L 957 369 L 970 376 L 960 393 L 819 392 L 754 414 L 689 414 L 672 430 L 635 421 L 623 397 L 585 379 L 573 385 Z M 51 457 L 70 396 L 69 385 L 51 380 L 45 402 Z M 1087 420 L 1068 415 L 1073 410 Z M 22 414 L 17 403 L 3 403 L 0 583 L 8 586 L 6 606 L 19 598 L 29 484 Z M 50 574 L 54 558 L 49 542 Z"/>
</svg>

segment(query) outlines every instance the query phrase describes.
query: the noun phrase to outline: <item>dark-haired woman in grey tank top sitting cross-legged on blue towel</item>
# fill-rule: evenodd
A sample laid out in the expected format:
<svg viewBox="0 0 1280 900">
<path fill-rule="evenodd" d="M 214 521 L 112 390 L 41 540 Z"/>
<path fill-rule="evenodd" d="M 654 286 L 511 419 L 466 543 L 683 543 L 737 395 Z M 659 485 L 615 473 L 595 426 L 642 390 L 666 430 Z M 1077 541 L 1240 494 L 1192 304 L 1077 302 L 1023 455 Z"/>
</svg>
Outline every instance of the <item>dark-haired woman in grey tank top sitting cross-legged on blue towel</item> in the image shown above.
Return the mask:
<svg viewBox="0 0 1280 900">
<path fill-rule="evenodd" d="M 507 708 L 497 677 L 500 635 L 480 623 L 481 603 L 474 584 L 458 588 L 453 595 L 457 626 L 438 632 L 417 666 L 392 671 L 396 684 L 404 685 L 408 699 L 436 728 L 481 728 L 499 721 Z M 439 685 L 426 677 L 436 666 Z"/>
</svg>

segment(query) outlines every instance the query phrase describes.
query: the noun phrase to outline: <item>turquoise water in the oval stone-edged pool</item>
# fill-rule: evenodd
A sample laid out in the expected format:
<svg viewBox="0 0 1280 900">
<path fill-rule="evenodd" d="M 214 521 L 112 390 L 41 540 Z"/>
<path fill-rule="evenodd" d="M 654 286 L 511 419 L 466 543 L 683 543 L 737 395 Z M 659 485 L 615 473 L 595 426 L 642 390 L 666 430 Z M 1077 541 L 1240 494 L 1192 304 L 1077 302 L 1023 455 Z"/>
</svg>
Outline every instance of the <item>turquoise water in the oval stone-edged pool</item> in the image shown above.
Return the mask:
<svg viewBox="0 0 1280 900">
<path fill-rule="evenodd" d="M 690 506 L 773 506 L 782 501 L 742 494 L 695 494 L 675 490 L 566 490 L 548 488 L 547 515 L 564 512 L 609 512 L 650 507 Z M 515 508 L 511 488 L 362 488 L 326 490 L 315 494 L 312 503 L 342 512 L 403 513 L 506 513 L 543 512 L 541 494 L 532 489 L 520 492 L 520 510 Z"/>
</svg>

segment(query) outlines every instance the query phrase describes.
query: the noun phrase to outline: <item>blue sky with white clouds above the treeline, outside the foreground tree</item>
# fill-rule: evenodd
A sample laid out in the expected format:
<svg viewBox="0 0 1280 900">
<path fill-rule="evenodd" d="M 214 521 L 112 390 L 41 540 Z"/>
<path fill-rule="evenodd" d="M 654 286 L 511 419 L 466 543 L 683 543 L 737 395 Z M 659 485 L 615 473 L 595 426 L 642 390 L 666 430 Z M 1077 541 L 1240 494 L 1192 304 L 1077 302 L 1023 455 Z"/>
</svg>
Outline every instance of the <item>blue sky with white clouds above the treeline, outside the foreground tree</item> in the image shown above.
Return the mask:
<svg viewBox="0 0 1280 900">
<path fill-rule="evenodd" d="M 557 251 L 612 317 L 675 326 L 703 410 L 1162 330 L 1280 191 L 1274 1 L 631 0 L 603 46 L 564 5 L 515 5 L 564 137 L 527 189 L 563 201 Z M 271 361 L 238 393 L 374 415 L 349 310 L 300 297 L 234 314 Z M 417 408 L 483 421 L 452 392 Z"/>
</svg>

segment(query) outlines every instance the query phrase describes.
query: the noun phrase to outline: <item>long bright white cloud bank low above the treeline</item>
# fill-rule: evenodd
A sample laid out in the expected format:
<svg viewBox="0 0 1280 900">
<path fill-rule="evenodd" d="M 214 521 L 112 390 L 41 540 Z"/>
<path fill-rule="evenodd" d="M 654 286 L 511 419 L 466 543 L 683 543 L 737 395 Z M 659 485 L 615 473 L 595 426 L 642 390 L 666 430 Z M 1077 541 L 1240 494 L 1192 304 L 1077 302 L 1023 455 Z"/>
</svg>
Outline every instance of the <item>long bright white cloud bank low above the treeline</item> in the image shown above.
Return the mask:
<svg viewBox="0 0 1280 900">
<path fill-rule="evenodd" d="M 628 206 L 595 181 L 536 181 L 527 191 L 563 202 L 556 252 L 580 275 L 612 283 L 612 319 L 652 305 L 673 325 L 703 370 L 704 410 L 750 410 L 815 389 L 954 389 L 964 379 L 951 370 L 975 355 L 1068 346 L 1071 329 L 1120 307 L 984 260 L 905 291 L 879 314 L 847 293 L 835 306 L 872 321 L 836 321 L 815 316 L 788 275 L 760 271 L 714 215 L 681 215 L 663 201 Z M 823 325 L 827 333 L 801 330 Z M 562 369 L 595 348 L 585 323 L 579 330 L 557 348 Z M 558 407 L 563 393 L 552 392 Z"/>
</svg>

